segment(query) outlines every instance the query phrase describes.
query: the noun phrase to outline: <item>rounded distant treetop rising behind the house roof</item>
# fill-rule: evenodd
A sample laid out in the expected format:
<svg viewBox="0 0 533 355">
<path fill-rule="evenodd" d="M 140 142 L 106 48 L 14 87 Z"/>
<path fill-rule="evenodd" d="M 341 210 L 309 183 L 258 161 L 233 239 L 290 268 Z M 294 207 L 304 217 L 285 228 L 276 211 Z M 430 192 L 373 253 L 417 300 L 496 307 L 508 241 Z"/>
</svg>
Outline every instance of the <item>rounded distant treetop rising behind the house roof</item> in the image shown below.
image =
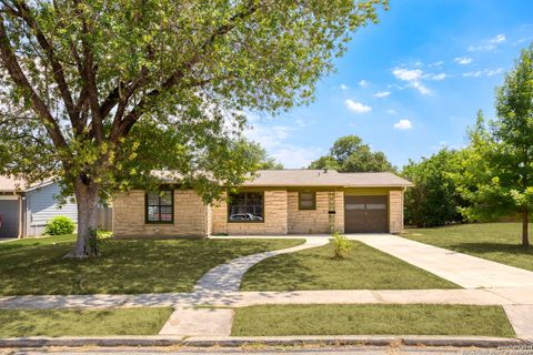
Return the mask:
<svg viewBox="0 0 533 355">
<path fill-rule="evenodd" d="M 394 171 L 383 152 L 372 152 L 356 135 L 338 139 L 328 155 L 313 161 L 310 169 L 333 169 L 342 172 Z"/>
</svg>

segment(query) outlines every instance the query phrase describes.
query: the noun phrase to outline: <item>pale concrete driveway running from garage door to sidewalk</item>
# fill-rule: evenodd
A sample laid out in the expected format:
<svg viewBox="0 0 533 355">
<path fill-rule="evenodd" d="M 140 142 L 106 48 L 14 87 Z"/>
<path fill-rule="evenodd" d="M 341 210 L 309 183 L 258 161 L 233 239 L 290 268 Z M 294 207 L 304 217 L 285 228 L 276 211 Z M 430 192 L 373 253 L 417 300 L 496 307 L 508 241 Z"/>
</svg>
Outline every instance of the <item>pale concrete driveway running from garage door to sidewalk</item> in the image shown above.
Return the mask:
<svg viewBox="0 0 533 355">
<path fill-rule="evenodd" d="M 533 272 L 391 234 L 352 234 L 362 242 L 464 288 L 533 287 Z"/>
</svg>

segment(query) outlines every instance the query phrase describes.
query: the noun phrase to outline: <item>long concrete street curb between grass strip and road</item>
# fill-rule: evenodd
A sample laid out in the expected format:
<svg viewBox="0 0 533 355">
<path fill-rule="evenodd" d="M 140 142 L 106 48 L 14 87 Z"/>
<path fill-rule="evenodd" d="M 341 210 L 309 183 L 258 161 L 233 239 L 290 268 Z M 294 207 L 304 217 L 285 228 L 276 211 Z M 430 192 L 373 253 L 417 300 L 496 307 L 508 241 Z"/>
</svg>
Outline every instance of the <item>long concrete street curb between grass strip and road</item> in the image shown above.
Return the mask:
<svg viewBox="0 0 533 355">
<path fill-rule="evenodd" d="M 181 337 L 181 336 L 117 336 L 117 337 L 16 337 L 0 338 L 1 347 L 44 346 L 190 346 L 190 347 L 240 347 L 303 346 L 303 345 L 366 345 L 366 346 L 454 346 L 454 347 L 520 347 L 531 341 L 500 337 L 450 337 L 450 336 L 250 336 L 250 337 Z"/>
</svg>

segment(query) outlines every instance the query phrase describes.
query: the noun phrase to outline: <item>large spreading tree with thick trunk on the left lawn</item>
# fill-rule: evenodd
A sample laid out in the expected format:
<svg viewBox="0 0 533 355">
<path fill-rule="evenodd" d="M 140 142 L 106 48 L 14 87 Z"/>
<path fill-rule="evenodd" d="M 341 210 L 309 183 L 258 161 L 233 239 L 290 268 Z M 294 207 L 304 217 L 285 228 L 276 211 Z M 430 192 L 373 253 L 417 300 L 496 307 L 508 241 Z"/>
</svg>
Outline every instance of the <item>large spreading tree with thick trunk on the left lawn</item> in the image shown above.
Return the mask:
<svg viewBox="0 0 533 355">
<path fill-rule="evenodd" d="M 79 211 L 69 256 L 94 256 L 99 199 L 149 180 L 152 168 L 177 169 L 205 199 L 242 182 L 251 166 L 233 156 L 241 112 L 312 100 L 381 7 L 1 0 L 0 173 L 59 178 Z"/>
</svg>

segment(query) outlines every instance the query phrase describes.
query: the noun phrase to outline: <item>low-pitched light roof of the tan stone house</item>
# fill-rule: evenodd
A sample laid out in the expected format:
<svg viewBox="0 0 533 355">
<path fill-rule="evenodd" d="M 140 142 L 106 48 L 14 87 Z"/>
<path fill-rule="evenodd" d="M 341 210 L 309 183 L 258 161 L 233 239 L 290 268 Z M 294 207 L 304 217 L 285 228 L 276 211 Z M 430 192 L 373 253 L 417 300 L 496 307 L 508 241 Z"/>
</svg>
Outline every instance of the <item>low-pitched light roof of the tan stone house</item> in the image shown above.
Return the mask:
<svg viewBox="0 0 533 355">
<path fill-rule="evenodd" d="M 243 186 L 406 187 L 413 184 L 393 173 L 340 173 L 335 170 L 260 170 Z"/>
</svg>

